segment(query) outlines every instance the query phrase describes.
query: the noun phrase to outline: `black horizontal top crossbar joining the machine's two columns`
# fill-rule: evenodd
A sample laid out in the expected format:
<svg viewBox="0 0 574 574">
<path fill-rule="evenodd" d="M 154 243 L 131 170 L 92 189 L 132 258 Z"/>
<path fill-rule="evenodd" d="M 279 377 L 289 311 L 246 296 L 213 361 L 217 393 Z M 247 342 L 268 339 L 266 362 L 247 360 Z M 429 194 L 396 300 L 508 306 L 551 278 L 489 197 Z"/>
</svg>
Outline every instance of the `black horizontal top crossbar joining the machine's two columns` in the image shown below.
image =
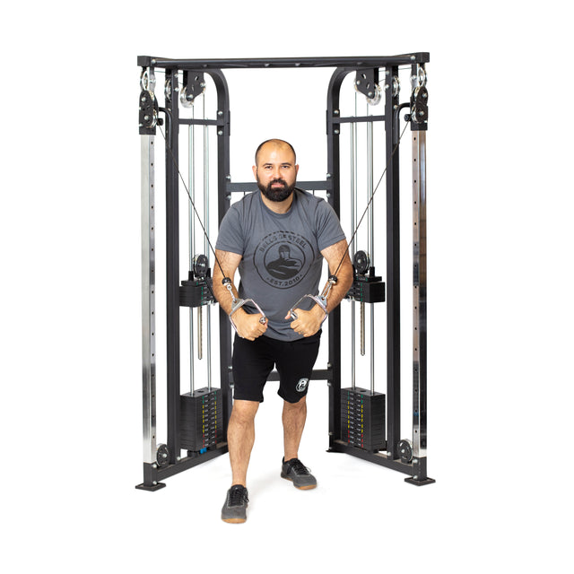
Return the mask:
<svg viewBox="0 0 574 574">
<path fill-rule="evenodd" d="M 298 68 L 298 67 L 387 67 L 389 65 L 424 64 L 430 61 L 429 52 L 414 52 L 400 56 L 368 57 L 279 57 L 232 58 L 229 60 L 178 60 L 163 57 L 138 56 L 137 65 L 166 70 L 198 70 L 222 68 Z"/>
</svg>

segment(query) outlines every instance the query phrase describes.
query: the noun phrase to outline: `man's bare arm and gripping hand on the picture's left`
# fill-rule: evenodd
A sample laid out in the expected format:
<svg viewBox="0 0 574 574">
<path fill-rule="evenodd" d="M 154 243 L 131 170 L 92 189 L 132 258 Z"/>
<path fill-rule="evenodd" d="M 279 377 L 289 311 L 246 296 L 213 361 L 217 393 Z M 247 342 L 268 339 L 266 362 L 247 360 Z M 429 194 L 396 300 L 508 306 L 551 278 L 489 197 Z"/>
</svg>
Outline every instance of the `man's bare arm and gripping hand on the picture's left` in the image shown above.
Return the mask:
<svg viewBox="0 0 574 574">
<path fill-rule="evenodd" d="M 215 249 L 215 257 L 217 261 L 213 265 L 213 295 L 215 295 L 215 299 L 217 299 L 221 308 L 229 315 L 233 300 L 231 299 L 230 291 L 223 285 L 222 281 L 225 277 L 229 277 L 233 295 L 236 299 L 239 298 L 237 289 L 232 282 L 242 257 L 237 253 L 220 249 Z M 259 313 L 250 315 L 243 309 L 235 311 L 233 313 L 233 323 L 239 336 L 249 341 L 255 341 L 258 336 L 263 335 L 267 330 L 267 324 L 259 323 L 260 318 L 261 314 Z"/>
</svg>

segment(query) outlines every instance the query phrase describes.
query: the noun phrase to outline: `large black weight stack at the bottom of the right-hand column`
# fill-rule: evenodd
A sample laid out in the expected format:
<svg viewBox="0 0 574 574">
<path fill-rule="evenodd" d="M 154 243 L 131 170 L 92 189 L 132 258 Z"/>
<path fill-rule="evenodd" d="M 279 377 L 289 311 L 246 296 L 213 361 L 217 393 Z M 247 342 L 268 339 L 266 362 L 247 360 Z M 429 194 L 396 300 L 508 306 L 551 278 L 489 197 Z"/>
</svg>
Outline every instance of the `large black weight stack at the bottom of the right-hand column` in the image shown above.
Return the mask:
<svg viewBox="0 0 574 574">
<path fill-rule="evenodd" d="M 359 387 L 342 388 L 341 439 L 365 450 L 386 448 L 385 395 Z"/>
</svg>

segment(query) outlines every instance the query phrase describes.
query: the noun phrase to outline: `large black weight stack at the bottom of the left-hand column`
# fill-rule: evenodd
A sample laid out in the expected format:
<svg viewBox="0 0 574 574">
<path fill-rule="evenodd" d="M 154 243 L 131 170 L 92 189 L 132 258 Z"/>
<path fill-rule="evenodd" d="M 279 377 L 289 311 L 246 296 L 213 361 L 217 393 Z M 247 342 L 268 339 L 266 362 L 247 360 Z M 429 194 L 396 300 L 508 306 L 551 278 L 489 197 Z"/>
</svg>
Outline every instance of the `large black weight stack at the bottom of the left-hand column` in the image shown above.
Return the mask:
<svg viewBox="0 0 574 574">
<path fill-rule="evenodd" d="M 204 452 L 221 442 L 222 390 L 204 387 L 179 398 L 180 447 L 191 452 Z"/>
</svg>

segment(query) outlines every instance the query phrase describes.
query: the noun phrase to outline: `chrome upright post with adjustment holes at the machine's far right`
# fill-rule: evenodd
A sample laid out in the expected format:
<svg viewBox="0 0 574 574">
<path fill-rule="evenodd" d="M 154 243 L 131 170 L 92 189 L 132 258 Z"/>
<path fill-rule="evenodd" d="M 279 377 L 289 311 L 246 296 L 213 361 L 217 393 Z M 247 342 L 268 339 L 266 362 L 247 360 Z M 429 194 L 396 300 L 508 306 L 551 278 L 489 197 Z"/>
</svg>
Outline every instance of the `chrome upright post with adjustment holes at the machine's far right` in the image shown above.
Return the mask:
<svg viewBox="0 0 574 574">
<path fill-rule="evenodd" d="M 426 131 L 413 131 L 413 456 L 427 451 Z"/>
</svg>

